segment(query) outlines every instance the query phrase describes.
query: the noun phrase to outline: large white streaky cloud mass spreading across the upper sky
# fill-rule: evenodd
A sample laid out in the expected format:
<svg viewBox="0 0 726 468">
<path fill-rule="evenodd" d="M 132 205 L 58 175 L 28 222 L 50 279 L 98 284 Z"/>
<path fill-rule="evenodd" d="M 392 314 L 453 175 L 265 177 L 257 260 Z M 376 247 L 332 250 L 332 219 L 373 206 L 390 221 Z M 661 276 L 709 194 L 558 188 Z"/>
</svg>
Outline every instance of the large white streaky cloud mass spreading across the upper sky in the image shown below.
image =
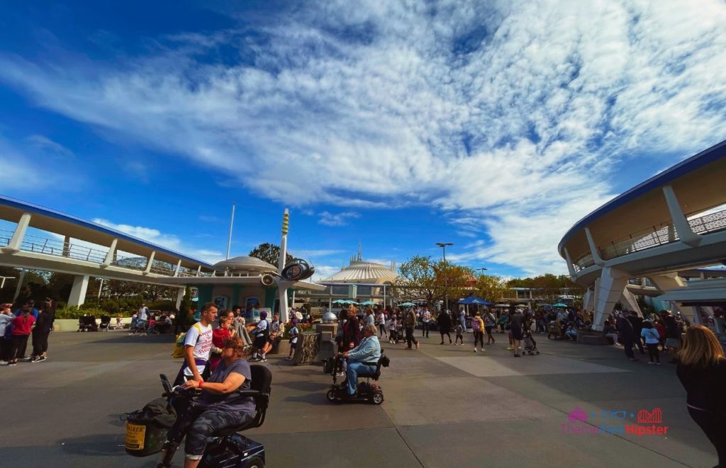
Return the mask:
<svg viewBox="0 0 726 468">
<path fill-rule="evenodd" d="M 271 199 L 433 204 L 491 238 L 462 255 L 527 272 L 564 268 L 560 235 L 627 188 L 615 164 L 669 165 L 726 130 L 718 0 L 326 1 L 277 19 L 259 41 L 180 34 L 127 62 L 0 56 L 0 80 Z M 199 62 L 219 43 L 254 65 Z"/>
</svg>

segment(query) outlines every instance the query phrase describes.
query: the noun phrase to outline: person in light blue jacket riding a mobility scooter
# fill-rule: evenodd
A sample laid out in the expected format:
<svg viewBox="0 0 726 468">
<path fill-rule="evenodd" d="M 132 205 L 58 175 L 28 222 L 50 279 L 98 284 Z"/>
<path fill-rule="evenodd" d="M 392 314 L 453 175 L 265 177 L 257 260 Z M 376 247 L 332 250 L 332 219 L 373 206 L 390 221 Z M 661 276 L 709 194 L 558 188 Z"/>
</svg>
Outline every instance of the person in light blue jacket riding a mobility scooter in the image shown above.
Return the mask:
<svg viewBox="0 0 726 468">
<path fill-rule="evenodd" d="M 367 325 L 364 333 L 365 338 L 351 351 L 340 353 L 323 362 L 325 373 L 333 375 L 333 385 L 327 391 L 328 401 L 367 401 L 379 405 L 383 403 L 383 390 L 378 385 L 380 367 L 388 367 L 391 361 L 383 355 L 375 325 Z M 348 359 L 346 383 L 337 385 L 335 369 L 343 359 Z M 359 378 L 365 378 L 366 381 L 359 383 Z M 354 393 L 351 394 L 351 390 Z"/>
</svg>

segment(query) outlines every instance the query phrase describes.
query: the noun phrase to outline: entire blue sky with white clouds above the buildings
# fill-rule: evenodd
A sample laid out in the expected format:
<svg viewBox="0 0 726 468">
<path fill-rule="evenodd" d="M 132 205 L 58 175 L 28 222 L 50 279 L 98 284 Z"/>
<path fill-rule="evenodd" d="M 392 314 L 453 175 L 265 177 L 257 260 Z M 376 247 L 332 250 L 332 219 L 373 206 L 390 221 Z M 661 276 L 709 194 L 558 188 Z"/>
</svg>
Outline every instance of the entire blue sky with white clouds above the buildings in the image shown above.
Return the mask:
<svg viewBox="0 0 726 468">
<path fill-rule="evenodd" d="M 0 16 L 0 193 L 208 261 L 566 272 L 604 201 L 724 139 L 722 1 L 126 1 Z M 590 4 L 592 3 L 592 4 Z"/>
</svg>

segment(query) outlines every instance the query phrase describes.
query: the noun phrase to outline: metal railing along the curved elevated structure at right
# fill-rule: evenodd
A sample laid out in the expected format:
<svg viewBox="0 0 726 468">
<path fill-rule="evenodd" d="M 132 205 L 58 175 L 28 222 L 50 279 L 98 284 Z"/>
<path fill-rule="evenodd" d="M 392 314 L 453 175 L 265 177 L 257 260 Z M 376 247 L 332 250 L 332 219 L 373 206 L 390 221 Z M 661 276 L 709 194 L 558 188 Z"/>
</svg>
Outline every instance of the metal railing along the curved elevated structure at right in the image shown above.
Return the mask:
<svg viewBox="0 0 726 468">
<path fill-rule="evenodd" d="M 726 230 L 726 209 L 693 218 L 688 220 L 688 224 L 694 233 L 701 235 Z M 680 241 L 680 238 L 673 226 L 673 222 L 672 220 L 667 220 L 657 225 L 638 230 L 635 233 L 624 235 L 603 246 L 598 246 L 597 250 L 600 252 L 600 257 L 603 260 L 609 260 L 677 241 Z M 592 259 L 592 254 L 583 254 L 573 262 L 576 272 L 591 267 L 593 264 L 595 262 Z"/>
</svg>

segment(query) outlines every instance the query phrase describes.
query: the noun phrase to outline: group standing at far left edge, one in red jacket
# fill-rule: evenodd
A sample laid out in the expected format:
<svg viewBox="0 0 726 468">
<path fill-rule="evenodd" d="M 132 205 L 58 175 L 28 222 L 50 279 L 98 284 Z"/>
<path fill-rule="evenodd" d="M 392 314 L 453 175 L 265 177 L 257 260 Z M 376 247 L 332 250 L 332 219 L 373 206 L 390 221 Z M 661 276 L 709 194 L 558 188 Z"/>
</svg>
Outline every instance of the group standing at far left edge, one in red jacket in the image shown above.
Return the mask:
<svg viewBox="0 0 726 468">
<path fill-rule="evenodd" d="M 48 336 L 55 321 L 53 301 L 46 298 L 40 309 L 33 300 L 25 301 L 15 312 L 12 304 L 1 304 L 0 309 L 0 364 L 16 366 L 19 361 L 48 359 Z M 29 339 L 30 356 L 26 354 Z"/>
</svg>

